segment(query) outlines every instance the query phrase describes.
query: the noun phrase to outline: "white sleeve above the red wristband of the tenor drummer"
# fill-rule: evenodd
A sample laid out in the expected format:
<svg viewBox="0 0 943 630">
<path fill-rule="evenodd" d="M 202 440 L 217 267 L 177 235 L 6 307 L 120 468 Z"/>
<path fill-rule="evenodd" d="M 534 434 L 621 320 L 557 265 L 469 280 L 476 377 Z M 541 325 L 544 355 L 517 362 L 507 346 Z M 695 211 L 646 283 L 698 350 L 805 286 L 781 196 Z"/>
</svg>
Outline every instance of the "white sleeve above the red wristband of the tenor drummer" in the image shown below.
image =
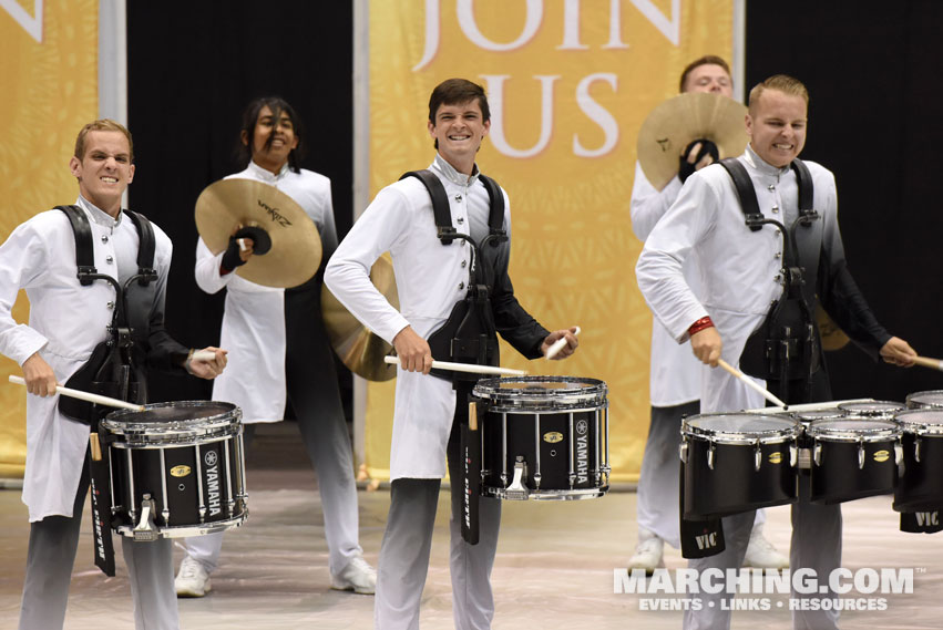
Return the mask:
<svg viewBox="0 0 943 630">
<path fill-rule="evenodd" d="M 689 177 L 648 235 L 635 267 L 645 301 L 678 343 L 687 341 L 688 328 L 707 316 L 683 268 L 691 248 L 711 229 L 718 204 L 717 194 L 704 178 L 697 174 Z"/>
</svg>

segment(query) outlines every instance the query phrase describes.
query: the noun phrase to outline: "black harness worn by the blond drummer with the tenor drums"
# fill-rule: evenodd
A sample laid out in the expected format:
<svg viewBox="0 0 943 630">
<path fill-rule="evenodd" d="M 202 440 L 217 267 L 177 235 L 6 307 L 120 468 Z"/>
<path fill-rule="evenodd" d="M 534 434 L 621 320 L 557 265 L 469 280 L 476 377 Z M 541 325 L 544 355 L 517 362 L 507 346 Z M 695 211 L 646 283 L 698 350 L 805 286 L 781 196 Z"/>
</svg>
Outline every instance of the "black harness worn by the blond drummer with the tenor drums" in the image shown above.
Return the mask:
<svg viewBox="0 0 943 630">
<path fill-rule="evenodd" d="M 721 159 L 720 165 L 734 180 L 747 227 L 751 231 L 759 231 L 763 225 L 775 225 L 782 234 L 782 296 L 770 307 L 766 321 L 747 339 L 740 355 L 740 369 L 747 374 L 778 384 L 779 397 L 788 403 L 808 402 L 812 375 L 821 365 L 821 342 L 814 323 L 814 306 L 818 301 L 814 279 L 812 282 L 807 281 L 807 269 L 801 262 L 814 262 L 811 270 L 816 272 L 818 257 L 811 254 L 811 260 L 800 259 L 797 233 L 800 226 L 811 228 L 813 221 L 820 218 L 812 208 L 812 176 L 801 161 L 792 161 L 791 167 L 799 186 L 799 216 L 787 229 L 776 219 L 763 217 L 752 180 L 739 161 L 728 157 Z M 819 244 L 814 252 L 820 248 Z"/>
</svg>

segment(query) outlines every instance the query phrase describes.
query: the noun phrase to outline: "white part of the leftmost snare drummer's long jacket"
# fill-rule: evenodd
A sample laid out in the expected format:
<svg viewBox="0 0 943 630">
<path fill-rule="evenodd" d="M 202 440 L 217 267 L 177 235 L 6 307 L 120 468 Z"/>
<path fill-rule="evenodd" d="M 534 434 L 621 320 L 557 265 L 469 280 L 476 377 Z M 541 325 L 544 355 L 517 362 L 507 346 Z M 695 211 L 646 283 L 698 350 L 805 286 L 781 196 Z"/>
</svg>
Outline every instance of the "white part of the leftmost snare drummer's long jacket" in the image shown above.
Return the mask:
<svg viewBox="0 0 943 630">
<path fill-rule="evenodd" d="M 116 280 L 137 271 L 137 229 L 127 217 L 116 223 L 80 196 L 89 217 L 95 268 Z M 171 239 L 154 227 L 156 307 L 163 311 Z M 0 246 L 0 352 L 18 364 L 39 352 L 65 383 L 104 341 L 111 324 L 115 291 L 96 280 L 79 283 L 75 238 L 65 213 L 48 210 L 18 226 Z M 30 300 L 29 324 L 11 314 L 20 289 Z M 89 446 L 89 426 L 59 413 L 59 396 L 27 395 L 27 469 L 23 503 L 30 521 L 47 516 L 72 516 L 79 477 Z"/>
</svg>

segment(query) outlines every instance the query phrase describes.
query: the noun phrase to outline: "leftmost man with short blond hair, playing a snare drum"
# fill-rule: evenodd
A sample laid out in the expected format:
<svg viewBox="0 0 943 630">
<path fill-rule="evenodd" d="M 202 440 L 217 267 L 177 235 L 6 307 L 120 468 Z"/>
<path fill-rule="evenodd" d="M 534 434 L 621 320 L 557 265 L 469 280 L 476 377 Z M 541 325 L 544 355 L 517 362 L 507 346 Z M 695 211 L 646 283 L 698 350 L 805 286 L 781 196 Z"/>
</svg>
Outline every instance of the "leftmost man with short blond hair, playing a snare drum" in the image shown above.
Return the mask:
<svg viewBox="0 0 943 630">
<path fill-rule="evenodd" d="M 134 176 L 133 159 L 131 134 L 124 126 L 109 120 L 89 123 L 79 133 L 69 162 L 79 180 L 75 205 L 34 216 L 0 246 L 0 352 L 22 365 L 30 393 L 23 481 L 30 543 L 21 630 L 63 626 L 90 483 L 89 422 L 94 425 L 96 419 L 83 419 L 83 423 L 63 415 L 57 385 L 71 385 L 70 379 L 89 364 L 93 350 L 106 338 L 120 339 L 113 313 L 123 308 L 131 322 L 142 322 L 131 330 L 133 354 L 141 358 L 131 366 L 136 366 L 139 374 L 143 375 L 147 365 L 213 379 L 226 364 L 225 351 L 207 348 L 212 360 L 194 358 L 192 350 L 163 329 L 171 240 L 142 216 L 122 213 L 121 196 Z M 88 240 L 73 233 L 70 216 L 84 226 Z M 153 237 L 145 238 L 145 229 L 137 227 L 140 220 L 153 228 Z M 93 254 L 91 271 L 98 277 L 89 283 L 80 279 L 82 269 L 76 266 L 80 241 L 80 251 L 88 251 L 83 249 L 88 242 Z M 154 246 L 153 267 L 142 269 L 139 242 L 145 241 Z M 142 275 L 147 276 L 146 281 Z M 25 289 L 30 300 L 28 326 L 18 324 L 10 312 L 20 289 Z M 143 394 L 144 384 L 136 385 Z M 122 537 L 122 550 L 135 627 L 178 628 L 170 539 L 133 543 Z"/>
</svg>

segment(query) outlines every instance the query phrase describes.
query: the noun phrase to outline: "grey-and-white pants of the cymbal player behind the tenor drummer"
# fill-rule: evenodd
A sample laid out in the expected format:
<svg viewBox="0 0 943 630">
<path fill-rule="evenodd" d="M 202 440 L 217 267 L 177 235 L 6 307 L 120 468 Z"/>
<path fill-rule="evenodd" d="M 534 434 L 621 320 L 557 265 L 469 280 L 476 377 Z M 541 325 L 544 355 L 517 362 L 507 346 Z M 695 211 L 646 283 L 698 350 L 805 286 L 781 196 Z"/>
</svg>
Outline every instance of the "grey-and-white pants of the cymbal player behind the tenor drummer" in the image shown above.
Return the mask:
<svg viewBox="0 0 943 630">
<path fill-rule="evenodd" d="M 653 406 L 648 438 L 638 474 L 636 515 L 638 529 L 647 530 L 676 549 L 678 531 L 678 473 L 681 420 L 695 415 L 700 401 L 675 406 Z M 766 521 L 766 510 L 757 510 L 756 525 Z"/>
</svg>

